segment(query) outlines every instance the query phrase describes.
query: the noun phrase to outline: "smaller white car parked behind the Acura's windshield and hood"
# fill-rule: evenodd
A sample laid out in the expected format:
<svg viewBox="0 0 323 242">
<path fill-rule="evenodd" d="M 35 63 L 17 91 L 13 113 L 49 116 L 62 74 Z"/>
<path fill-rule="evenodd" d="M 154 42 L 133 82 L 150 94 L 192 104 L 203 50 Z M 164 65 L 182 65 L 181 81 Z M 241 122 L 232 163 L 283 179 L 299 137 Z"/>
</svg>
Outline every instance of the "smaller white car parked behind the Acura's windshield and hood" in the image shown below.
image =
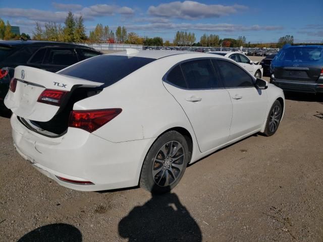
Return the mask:
<svg viewBox="0 0 323 242">
<path fill-rule="evenodd" d="M 219 54 L 226 56 L 230 59 L 233 59 L 240 66 L 246 69 L 252 76 L 255 78 L 261 78 L 263 74 L 262 66 L 258 65 L 258 62 L 251 61 L 245 54 L 242 52 L 236 51 L 211 51 L 208 53 Z"/>
</svg>

